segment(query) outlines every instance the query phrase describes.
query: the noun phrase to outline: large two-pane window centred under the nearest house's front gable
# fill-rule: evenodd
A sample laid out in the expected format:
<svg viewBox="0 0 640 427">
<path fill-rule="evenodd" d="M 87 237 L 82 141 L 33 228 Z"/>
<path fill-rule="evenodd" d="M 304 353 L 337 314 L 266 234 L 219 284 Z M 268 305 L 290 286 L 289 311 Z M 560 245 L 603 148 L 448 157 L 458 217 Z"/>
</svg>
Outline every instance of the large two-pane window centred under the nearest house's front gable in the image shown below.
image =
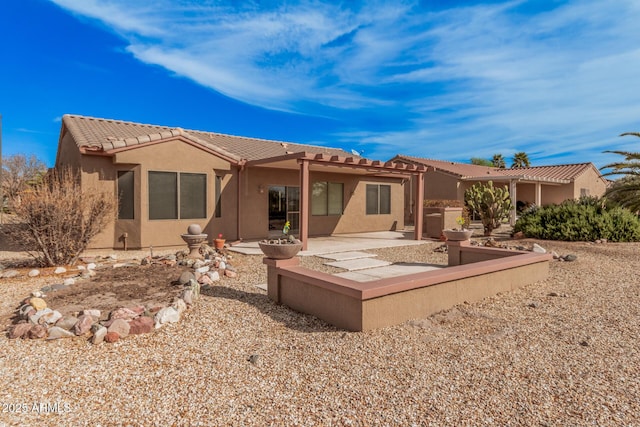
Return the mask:
<svg viewBox="0 0 640 427">
<path fill-rule="evenodd" d="M 149 219 L 206 217 L 206 174 L 149 172 Z"/>
</svg>

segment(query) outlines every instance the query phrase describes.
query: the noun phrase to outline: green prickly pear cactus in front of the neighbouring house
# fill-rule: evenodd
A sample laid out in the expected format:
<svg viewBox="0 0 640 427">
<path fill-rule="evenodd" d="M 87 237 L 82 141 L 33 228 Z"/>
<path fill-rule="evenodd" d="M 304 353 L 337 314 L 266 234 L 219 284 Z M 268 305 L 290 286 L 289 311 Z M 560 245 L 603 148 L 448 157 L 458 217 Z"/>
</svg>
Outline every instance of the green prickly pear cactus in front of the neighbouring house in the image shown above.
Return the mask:
<svg viewBox="0 0 640 427">
<path fill-rule="evenodd" d="M 509 218 L 513 208 L 509 190 L 494 187 L 491 181 L 486 185 L 475 184 L 464 192 L 464 198 L 469 207 L 480 215 L 485 236 L 490 236 L 493 230 L 499 228 L 502 221 Z"/>
</svg>

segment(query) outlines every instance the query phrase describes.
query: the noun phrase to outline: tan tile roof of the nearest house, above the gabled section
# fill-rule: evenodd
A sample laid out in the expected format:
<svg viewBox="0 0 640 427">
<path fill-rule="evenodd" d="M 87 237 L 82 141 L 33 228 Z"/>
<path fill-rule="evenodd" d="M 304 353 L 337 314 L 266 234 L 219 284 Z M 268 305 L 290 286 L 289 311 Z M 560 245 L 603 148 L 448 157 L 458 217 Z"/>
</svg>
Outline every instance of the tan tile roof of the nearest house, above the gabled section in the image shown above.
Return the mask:
<svg viewBox="0 0 640 427">
<path fill-rule="evenodd" d="M 76 145 L 88 151 L 109 152 L 182 136 L 206 149 L 236 161 L 260 160 L 299 152 L 352 156 L 351 153 L 337 148 L 185 130 L 121 120 L 64 115 L 62 122 L 73 136 Z"/>
</svg>

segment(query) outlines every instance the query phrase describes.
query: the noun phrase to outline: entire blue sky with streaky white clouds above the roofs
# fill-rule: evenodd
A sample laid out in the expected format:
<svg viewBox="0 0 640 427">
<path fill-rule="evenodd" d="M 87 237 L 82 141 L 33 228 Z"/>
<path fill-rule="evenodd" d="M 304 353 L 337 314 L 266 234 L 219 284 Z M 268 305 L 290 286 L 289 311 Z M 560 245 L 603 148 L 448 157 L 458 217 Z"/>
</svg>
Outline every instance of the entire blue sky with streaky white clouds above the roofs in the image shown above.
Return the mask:
<svg viewBox="0 0 640 427">
<path fill-rule="evenodd" d="M 468 162 L 640 151 L 640 2 L 20 0 L 0 8 L 3 155 L 63 114 Z"/>
</svg>

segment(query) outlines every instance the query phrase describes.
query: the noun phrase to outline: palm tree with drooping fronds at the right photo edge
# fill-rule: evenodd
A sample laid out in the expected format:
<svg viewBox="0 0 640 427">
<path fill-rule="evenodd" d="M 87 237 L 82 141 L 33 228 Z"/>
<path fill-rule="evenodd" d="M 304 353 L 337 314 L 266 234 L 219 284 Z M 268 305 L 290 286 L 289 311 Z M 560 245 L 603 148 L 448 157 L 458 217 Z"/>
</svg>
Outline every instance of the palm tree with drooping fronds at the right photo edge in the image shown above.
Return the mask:
<svg viewBox="0 0 640 427">
<path fill-rule="evenodd" d="M 625 132 L 620 136 L 632 135 L 640 137 L 640 132 Z M 614 162 L 600 169 L 611 169 L 602 175 L 624 175 L 609 188 L 605 197 L 609 197 L 620 203 L 621 206 L 633 212 L 640 211 L 640 153 L 631 151 L 607 150 L 605 153 L 614 153 L 624 156 L 624 161 Z"/>
</svg>

